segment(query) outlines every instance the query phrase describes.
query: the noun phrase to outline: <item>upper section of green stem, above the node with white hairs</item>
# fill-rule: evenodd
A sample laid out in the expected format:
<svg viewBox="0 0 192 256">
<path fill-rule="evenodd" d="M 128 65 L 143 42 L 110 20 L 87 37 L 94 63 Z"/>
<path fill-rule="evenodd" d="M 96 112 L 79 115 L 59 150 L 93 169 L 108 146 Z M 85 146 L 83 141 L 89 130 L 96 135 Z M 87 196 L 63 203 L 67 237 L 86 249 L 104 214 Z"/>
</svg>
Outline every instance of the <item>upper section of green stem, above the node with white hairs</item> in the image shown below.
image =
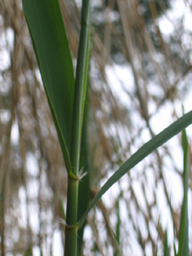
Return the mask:
<svg viewBox="0 0 192 256">
<path fill-rule="evenodd" d="M 90 23 L 90 0 L 84 0 L 81 11 L 81 34 L 78 47 L 78 62 L 75 80 L 75 96 L 72 122 L 72 172 L 78 174 L 80 145 L 81 145 L 81 127 L 84 111 L 84 100 L 86 95 L 86 83 L 84 78 L 87 69 L 87 47 L 89 40 Z"/>
</svg>

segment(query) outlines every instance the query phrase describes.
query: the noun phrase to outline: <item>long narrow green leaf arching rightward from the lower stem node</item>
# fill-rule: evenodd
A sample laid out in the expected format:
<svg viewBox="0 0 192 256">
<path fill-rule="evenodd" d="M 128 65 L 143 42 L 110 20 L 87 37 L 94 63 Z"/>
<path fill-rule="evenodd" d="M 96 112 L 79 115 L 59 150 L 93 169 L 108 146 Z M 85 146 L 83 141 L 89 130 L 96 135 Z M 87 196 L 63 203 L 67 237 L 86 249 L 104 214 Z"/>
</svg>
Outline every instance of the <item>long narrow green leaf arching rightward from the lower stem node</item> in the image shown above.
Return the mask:
<svg viewBox="0 0 192 256">
<path fill-rule="evenodd" d="M 84 219 L 87 217 L 88 212 L 90 212 L 90 210 L 96 205 L 102 195 L 105 194 L 105 192 L 124 174 L 126 174 L 126 172 L 130 171 L 130 169 L 136 166 L 137 163 L 141 162 L 145 157 L 148 157 L 148 155 L 151 154 L 154 150 L 159 148 L 161 145 L 163 145 L 163 143 L 167 142 L 176 134 L 180 133 L 191 123 L 192 111 L 184 114 L 183 117 L 180 117 L 157 136 L 154 136 L 154 138 L 151 139 L 149 142 L 145 143 L 142 148 L 139 148 L 139 150 L 136 151 L 136 153 L 133 154 L 130 159 L 126 160 L 126 162 L 123 163 L 122 166 L 120 166 L 120 169 L 117 169 L 117 171 L 114 172 L 114 175 L 112 175 L 111 178 L 109 178 L 108 181 L 106 181 L 106 183 L 101 187 L 98 194 L 96 194 L 96 197 L 90 203 L 90 206 L 87 208 L 86 212 L 84 212 L 84 215 L 82 215 L 82 217 L 79 219 L 77 225 L 81 227 Z"/>
</svg>

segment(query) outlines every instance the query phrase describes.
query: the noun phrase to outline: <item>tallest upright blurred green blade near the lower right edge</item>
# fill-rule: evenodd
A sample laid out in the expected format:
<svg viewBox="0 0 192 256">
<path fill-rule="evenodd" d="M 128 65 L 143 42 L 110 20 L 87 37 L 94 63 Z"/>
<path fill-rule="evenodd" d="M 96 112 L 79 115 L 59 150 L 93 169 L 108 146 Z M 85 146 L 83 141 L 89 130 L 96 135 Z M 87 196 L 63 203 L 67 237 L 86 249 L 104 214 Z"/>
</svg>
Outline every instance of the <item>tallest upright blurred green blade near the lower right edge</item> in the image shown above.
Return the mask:
<svg viewBox="0 0 192 256">
<path fill-rule="evenodd" d="M 183 187 L 184 197 L 181 207 L 181 221 L 179 228 L 178 238 L 178 254 L 177 256 L 189 256 L 189 231 L 188 231 L 188 208 L 187 208 L 187 151 L 188 142 L 187 134 L 184 130 L 182 133 L 182 147 L 183 147 L 183 158 L 184 158 L 184 172 L 183 172 Z"/>
</svg>

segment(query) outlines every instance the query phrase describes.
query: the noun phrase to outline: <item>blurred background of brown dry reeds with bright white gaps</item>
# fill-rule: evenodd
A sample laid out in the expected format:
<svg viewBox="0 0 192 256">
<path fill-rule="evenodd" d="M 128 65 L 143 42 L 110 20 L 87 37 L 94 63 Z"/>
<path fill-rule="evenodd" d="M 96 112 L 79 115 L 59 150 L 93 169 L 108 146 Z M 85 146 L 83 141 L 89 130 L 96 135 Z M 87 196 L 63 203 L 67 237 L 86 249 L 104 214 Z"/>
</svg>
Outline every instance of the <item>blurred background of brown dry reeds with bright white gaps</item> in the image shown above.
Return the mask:
<svg viewBox="0 0 192 256">
<path fill-rule="evenodd" d="M 59 2 L 75 66 L 81 2 Z M 136 149 L 181 116 L 191 92 L 192 30 L 185 20 L 191 10 L 190 0 L 92 1 L 92 196 Z M 0 72 L 0 254 L 56 255 L 56 239 L 64 241 L 59 218 L 67 175 L 21 0 L 0 1 Z M 119 248 L 122 255 L 162 255 L 166 239 L 174 254 L 182 201 L 181 136 L 173 142 L 125 175 L 90 212 L 82 255 L 118 255 Z M 191 144 L 191 213 L 190 149 Z"/>
</svg>

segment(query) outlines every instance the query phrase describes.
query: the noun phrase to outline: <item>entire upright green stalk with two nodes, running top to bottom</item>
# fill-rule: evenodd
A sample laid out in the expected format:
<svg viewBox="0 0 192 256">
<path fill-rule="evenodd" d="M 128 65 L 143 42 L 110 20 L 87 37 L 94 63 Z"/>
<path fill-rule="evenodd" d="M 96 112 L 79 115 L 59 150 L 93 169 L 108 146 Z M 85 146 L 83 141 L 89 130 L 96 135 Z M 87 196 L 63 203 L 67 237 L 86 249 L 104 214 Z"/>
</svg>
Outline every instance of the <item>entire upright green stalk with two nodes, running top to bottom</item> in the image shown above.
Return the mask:
<svg viewBox="0 0 192 256">
<path fill-rule="evenodd" d="M 81 33 L 78 47 L 78 62 L 75 80 L 75 96 L 72 119 L 72 171 L 68 176 L 68 195 L 66 211 L 65 255 L 76 256 L 78 253 L 78 227 L 69 227 L 77 222 L 78 216 L 78 171 L 81 146 L 81 128 L 84 116 L 84 101 L 87 88 L 87 62 L 89 52 L 90 0 L 83 0 L 81 9 Z"/>
</svg>

